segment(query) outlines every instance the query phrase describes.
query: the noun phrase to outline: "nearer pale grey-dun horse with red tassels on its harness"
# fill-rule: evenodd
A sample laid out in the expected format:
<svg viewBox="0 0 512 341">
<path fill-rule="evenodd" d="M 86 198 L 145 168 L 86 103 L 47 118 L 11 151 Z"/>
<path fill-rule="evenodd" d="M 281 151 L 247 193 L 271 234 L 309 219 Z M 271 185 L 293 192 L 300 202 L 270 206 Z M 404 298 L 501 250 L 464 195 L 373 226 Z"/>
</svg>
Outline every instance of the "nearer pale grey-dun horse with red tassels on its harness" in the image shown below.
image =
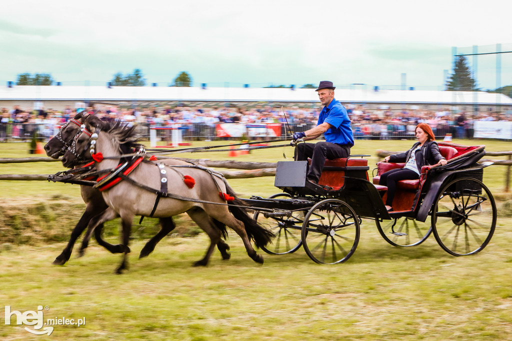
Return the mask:
<svg viewBox="0 0 512 341">
<path fill-rule="evenodd" d="M 103 122 L 92 115 L 82 118 L 82 122 L 86 129 L 75 137 L 62 157 L 62 164 L 70 167 L 80 158 L 93 157 L 98 171 L 115 172 L 122 157 L 119 155 L 121 144 L 137 140 L 133 127 L 119 122 Z M 117 173 L 119 172 L 114 174 Z M 166 174 L 168 179 L 163 181 L 161 174 Z M 273 233 L 249 217 L 243 201 L 234 195 L 234 191 L 217 172 L 185 161 L 169 160 L 166 163 L 157 163 L 144 159 L 131 170 L 129 177 L 123 176 L 122 179 L 115 186 L 102 191 L 109 208 L 89 223 L 94 230 L 106 221 L 121 218 L 121 245 L 124 249 L 117 273 L 122 273 L 127 268 L 129 238 L 136 215 L 169 218 L 186 212 L 210 238 L 206 254 L 194 263 L 195 266 L 208 264 L 215 245 L 223 235 L 222 225 L 237 232 L 253 261 L 263 263 L 262 255 L 252 248 L 250 240 L 257 247 L 262 247 L 271 241 Z M 190 186 L 184 179 L 193 179 L 194 185 Z M 172 183 L 173 188 L 160 199 L 158 193 L 162 194 L 162 191 L 159 192 L 158 188 L 161 188 L 163 182 Z M 227 204 L 227 200 L 232 203 Z"/>
</svg>

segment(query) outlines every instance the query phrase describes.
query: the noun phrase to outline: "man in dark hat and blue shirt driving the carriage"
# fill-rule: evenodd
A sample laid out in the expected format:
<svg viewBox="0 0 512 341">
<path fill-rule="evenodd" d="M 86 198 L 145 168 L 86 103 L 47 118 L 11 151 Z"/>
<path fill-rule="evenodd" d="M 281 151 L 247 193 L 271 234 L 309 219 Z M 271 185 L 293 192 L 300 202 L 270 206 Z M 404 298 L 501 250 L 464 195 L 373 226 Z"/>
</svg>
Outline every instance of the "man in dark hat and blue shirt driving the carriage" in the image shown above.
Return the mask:
<svg viewBox="0 0 512 341">
<path fill-rule="evenodd" d="M 318 184 L 322 175 L 325 160 L 347 158 L 350 148 L 354 145 L 354 135 L 350 118 L 345 107 L 334 98 L 333 83 L 323 80 L 315 91 L 324 108 L 320 112 L 315 127 L 305 132 L 293 134 L 292 146 L 295 147 L 295 161 L 306 161 L 311 158 L 311 166 L 307 174 L 308 181 Z M 325 141 L 316 143 L 298 143 L 297 140 L 314 140 L 324 134 Z"/>
</svg>

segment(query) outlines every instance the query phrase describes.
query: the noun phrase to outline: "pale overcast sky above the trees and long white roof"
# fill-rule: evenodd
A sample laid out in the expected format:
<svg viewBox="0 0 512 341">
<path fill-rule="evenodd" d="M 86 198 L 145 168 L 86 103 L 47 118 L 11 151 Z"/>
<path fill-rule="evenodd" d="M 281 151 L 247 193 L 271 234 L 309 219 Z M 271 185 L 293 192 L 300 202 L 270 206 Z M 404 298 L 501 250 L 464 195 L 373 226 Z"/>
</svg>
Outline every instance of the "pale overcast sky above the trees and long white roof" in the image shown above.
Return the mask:
<svg viewBox="0 0 512 341">
<path fill-rule="evenodd" d="M 512 46 L 511 13 L 495 0 L 4 1 L 0 81 L 99 85 L 140 69 L 161 85 L 186 71 L 196 86 L 400 86 L 405 73 L 408 87 L 442 90 L 452 47 Z M 501 56 L 512 84 L 512 53 Z M 495 88 L 496 57 L 478 67 L 479 86 Z"/>
</svg>

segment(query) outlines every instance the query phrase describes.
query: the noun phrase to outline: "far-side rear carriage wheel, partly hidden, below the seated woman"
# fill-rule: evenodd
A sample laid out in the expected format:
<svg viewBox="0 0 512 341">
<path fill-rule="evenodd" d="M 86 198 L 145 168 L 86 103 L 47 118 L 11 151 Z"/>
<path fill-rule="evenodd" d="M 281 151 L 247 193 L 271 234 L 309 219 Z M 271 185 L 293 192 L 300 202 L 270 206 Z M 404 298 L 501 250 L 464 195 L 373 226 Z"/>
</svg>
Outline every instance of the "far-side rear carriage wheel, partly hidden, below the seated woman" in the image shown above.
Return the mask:
<svg viewBox="0 0 512 341">
<path fill-rule="evenodd" d="M 415 246 L 423 243 L 432 233 L 429 222 L 422 223 L 411 217 L 401 217 L 380 222 L 375 220 L 380 236 L 393 246 Z"/>
</svg>

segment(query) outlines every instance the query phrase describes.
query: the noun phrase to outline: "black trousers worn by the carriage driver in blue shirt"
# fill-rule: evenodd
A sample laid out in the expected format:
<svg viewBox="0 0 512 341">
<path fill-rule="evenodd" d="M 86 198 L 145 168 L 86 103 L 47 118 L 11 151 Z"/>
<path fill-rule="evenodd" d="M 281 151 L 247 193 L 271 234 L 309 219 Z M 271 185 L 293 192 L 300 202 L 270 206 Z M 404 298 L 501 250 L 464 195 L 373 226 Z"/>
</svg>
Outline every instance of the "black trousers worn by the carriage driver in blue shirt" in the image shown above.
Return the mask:
<svg viewBox="0 0 512 341">
<path fill-rule="evenodd" d="M 316 143 L 299 143 L 295 147 L 295 161 L 305 161 L 311 158 L 311 166 L 307 174 L 308 180 L 318 183 L 322 175 L 325 160 L 347 158 L 350 146 L 326 141 Z"/>
</svg>

